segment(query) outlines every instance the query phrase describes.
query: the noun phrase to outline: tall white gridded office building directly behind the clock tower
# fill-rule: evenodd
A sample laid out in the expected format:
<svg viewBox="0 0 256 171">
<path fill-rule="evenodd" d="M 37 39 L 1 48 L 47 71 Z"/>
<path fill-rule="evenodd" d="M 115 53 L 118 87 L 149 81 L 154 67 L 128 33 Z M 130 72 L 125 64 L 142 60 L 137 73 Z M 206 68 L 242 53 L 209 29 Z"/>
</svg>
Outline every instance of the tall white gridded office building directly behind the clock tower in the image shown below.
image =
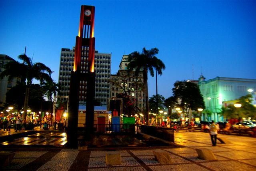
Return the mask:
<svg viewBox="0 0 256 171">
<path fill-rule="evenodd" d="M 70 76 L 74 66 L 75 47 L 62 48 L 60 53 L 59 81 L 62 96 L 68 96 L 70 91 Z M 107 105 L 110 97 L 110 65 L 111 54 L 95 51 L 94 69 L 96 72 L 95 100 L 102 106 Z M 86 97 L 79 97 L 79 104 L 86 105 Z"/>
</svg>

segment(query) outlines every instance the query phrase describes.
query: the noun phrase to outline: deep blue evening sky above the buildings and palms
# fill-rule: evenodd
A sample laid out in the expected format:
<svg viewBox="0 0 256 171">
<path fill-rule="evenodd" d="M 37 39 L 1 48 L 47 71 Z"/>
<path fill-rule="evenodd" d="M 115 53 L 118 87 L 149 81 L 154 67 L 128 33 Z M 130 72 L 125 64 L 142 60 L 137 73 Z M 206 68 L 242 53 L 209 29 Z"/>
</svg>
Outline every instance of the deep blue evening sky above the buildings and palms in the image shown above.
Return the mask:
<svg viewBox="0 0 256 171">
<path fill-rule="evenodd" d="M 95 48 L 112 53 L 116 74 L 124 54 L 158 48 L 166 65 L 158 93 L 168 98 L 177 80 L 256 79 L 255 0 L 2 0 L 0 54 L 24 53 L 54 71 L 61 48 L 72 48 L 81 5 L 95 6 Z M 156 92 L 148 76 L 149 95 Z"/>
</svg>

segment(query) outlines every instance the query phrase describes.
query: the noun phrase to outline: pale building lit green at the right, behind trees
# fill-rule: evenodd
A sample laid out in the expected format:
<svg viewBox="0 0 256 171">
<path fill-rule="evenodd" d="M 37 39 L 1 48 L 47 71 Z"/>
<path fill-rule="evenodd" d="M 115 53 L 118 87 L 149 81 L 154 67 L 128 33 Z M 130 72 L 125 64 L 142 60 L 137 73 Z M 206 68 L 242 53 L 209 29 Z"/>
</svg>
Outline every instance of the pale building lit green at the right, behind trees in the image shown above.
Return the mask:
<svg viewBox="0 0 256 171">
<path fill-rule="evenodd" d="M 220 115 L 222 103 L 239 99 L 248 93 L 255 94 L 256 79 L 216 77 L 206 81 L 204 76 L 200 76 L 199 87 L 206 110 L 212 112 L 210 117 L 206 114 L 202 115 L 202 120 L 223 121 Z M 248 89 L 252 89 L 253 92 L 248 92 Z"/>
</svg>

